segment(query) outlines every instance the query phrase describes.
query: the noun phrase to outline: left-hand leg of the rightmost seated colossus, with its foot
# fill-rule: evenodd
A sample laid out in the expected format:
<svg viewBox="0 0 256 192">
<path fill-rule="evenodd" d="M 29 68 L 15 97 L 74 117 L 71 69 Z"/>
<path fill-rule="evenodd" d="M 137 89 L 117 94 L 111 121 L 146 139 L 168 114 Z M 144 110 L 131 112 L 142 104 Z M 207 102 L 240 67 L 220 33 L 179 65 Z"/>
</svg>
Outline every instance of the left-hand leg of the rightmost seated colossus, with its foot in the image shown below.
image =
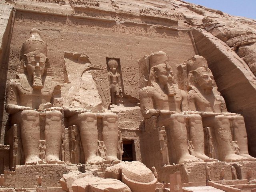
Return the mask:
<svg viewBox="0 0 256 192">
<path fill-rule="evenodd" d="M 248 160 L 248 158 L 236 155 L 234 152 L 228 117 L 223 115 L 215 116 L 213 124 L 220 160 L 226 162 Z"/>
</svg>

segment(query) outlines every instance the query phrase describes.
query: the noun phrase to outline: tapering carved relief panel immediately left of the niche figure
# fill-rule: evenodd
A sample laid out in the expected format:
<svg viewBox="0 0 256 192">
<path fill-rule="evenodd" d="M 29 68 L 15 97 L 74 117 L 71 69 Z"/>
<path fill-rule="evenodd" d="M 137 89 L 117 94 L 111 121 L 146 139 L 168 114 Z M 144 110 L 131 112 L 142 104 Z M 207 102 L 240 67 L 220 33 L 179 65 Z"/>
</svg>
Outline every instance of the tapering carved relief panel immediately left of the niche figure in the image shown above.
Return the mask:
<svg viewBox="0 0 256 192">
<path fill-rule="evenodd" d="M 90 70 L 105 108 L 111 103 L 107 69 Z"/>
</svg>

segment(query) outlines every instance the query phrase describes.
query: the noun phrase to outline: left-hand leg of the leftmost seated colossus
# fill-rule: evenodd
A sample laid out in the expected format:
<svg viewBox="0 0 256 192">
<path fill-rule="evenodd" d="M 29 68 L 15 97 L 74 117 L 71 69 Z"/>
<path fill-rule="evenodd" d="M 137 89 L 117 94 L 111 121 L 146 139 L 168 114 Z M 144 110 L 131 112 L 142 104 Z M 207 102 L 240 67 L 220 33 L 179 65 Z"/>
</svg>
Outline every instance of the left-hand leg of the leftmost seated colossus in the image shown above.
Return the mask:
<svg viewBox="0 0 256 192">
<path fill-rule="evenodd" d="M 39 113 L 34 110 L 24 110 L 20 113 L 21 140 L 25 164 L 42 164 L 39 158 L 40 126 Z"/>
</svg>

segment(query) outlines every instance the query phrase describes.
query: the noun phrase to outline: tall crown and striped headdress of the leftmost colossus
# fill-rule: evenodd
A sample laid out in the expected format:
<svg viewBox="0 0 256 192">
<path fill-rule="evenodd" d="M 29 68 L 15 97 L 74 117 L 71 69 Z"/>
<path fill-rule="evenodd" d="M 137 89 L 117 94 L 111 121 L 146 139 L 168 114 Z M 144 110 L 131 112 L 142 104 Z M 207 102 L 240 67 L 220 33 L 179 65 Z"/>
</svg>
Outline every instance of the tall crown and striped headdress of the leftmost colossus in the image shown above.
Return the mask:
<svg viewBox="0 0 256 192">
<path fill-rule="evenodd" d="M 20 65 L 18 66 L 16 74 L 26 74 L 24 64 L 30 57 L 46 58 L 44 76 L 54 76 L 47 58 L 47 44 L 41 39 L 38 29 L 30 30 L 30 38 L 22 44 L 20 50 Z"/>
</svg>

